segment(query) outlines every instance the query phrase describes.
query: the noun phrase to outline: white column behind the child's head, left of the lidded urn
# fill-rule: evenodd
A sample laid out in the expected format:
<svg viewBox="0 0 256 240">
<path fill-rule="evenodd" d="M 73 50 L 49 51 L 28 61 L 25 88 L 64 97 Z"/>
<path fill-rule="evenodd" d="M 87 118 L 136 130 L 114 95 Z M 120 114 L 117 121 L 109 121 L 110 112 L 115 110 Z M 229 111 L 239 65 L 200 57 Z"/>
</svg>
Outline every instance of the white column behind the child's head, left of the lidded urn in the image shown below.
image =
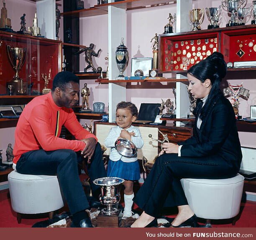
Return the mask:
<svg viewBox="0 0 256 240">
<path fill-rule="evenodd" d="M 109 79 L 114 80 L 119 75 L 115 62 L 115 50 L 124 38 L 126 45 L 126 11 L 117 7 L 108 7 L 108 55 L 109 55 Z M 109 122 L 115 122 L 116 105 L 120 101 L 126 101 L 125 85 L 109 84 Z"/>
</svg>

